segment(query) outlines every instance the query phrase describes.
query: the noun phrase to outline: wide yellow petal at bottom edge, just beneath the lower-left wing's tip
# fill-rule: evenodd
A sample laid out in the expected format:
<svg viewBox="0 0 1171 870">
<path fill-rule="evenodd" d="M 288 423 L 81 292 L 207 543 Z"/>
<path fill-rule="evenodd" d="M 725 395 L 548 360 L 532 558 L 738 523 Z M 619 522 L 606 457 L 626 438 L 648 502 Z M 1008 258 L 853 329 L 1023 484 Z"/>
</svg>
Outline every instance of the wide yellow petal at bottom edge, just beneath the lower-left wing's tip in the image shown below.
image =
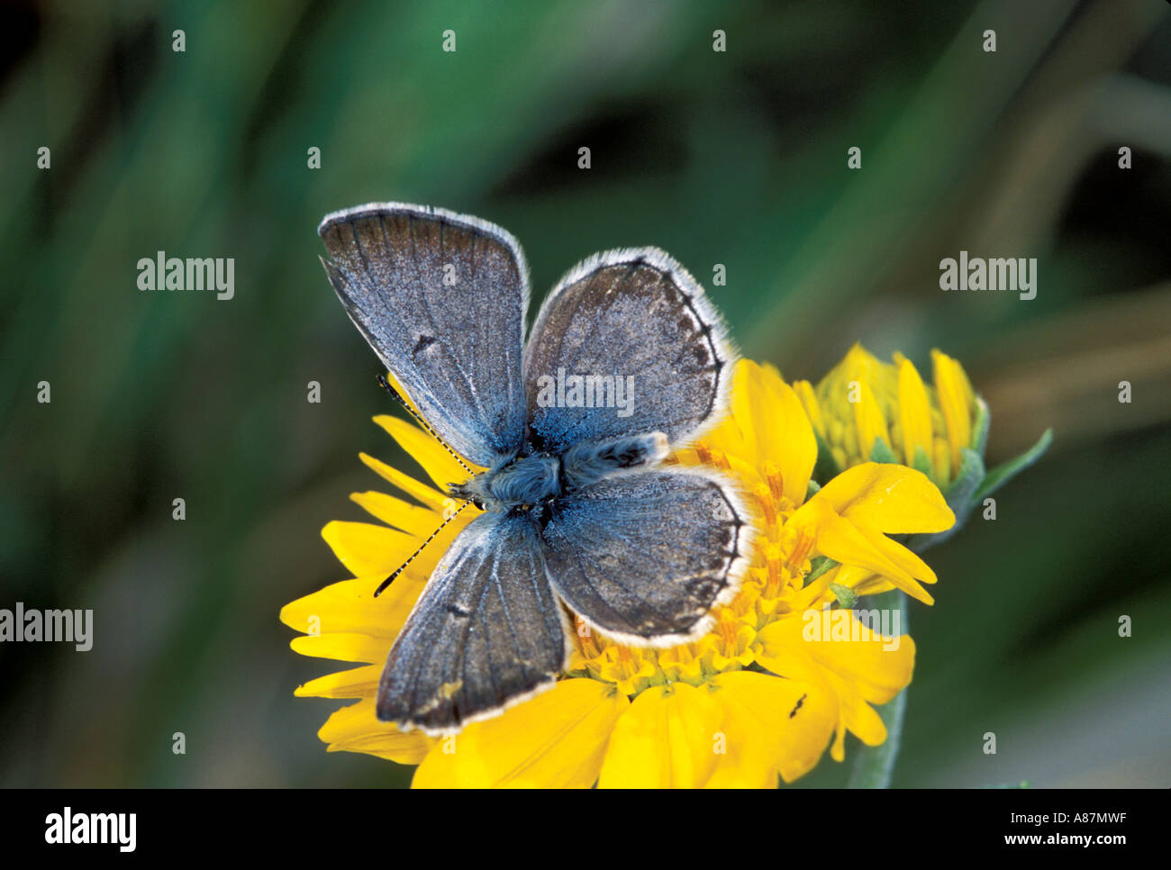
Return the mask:
<svg viewBox="0 0 1171 870">
<path fill-rule="evenodd" d="M 629 706 L 614 686 L 567 679 L 504 714 L 440 738 L 415 788 L 589 788 Z"/>
</svg>

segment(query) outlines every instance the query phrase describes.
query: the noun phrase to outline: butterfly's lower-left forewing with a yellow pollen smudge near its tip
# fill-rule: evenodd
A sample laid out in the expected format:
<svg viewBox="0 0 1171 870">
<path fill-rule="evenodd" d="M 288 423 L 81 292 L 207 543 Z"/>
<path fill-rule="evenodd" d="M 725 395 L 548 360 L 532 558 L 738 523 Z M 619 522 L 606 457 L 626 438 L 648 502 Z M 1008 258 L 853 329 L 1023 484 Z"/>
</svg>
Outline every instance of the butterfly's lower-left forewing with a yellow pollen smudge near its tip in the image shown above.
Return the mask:
<svg viewBox="0 0 1171 870">
<path fill-rule="evenodd" d="M 452 542 L 395 642 L 378 718 L 458 731 L 552 686 L 566 640 L 532 518 L 484 514 Z"/>
</svg>

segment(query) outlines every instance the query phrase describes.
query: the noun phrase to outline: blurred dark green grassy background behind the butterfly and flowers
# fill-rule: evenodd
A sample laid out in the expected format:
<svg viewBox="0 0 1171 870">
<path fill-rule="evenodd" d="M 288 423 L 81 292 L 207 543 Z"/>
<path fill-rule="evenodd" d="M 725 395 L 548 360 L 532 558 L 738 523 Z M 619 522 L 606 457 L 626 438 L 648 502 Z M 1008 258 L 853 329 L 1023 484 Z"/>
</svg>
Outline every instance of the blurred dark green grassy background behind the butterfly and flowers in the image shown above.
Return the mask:
<svg viewBox="0 0 1171 870">
<path fill-rule="evenodd" d="M 347 576 L 319 532 L 379 487 L 358 451 L 410 467 L 370 422 L 398 411 L 315 234 L 388 199 L 507 227 L 537 299 L 595 251 L 664 247 L 790 378 L 855 341 L 920 368 L 939 347 L 991 404 L 992 464 L 1053 426 L 999 519 L 929 554 L 938 603 L 911 612 L 895 785 L 1171 785 L 1169 12 L 8 5 L 0 607 L 93 608 L 96 625 L 85 653 L 0 646 L 0 785 L 409 781 L 327 755 L 315 732 L 341 704 L 293 690 L 336 666 L 294 655 L 276 616 Z M 941 293 L 961 248 L 1038 258 L 1036 299 Z M 141 293 L 159 249 L 234 258 L 235 297 Z M 847 774 L 827 755 L 801 785 Z"/>
</svg>

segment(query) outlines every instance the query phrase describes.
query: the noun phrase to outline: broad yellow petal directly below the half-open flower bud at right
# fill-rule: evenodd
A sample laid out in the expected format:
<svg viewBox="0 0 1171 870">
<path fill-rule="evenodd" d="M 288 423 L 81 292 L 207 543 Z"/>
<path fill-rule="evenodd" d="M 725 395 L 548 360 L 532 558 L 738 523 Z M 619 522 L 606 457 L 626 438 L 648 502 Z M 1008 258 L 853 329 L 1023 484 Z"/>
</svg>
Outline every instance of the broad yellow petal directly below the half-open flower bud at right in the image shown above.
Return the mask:
<svg viewBox="0 0 1171 870">
<path fill-rule="evenodd" d="M 943 532 L 956 522 L 943 493 L 926 474 L 905 465 L 863 463 L 842 472 L 814 495 L 851 522 L 889 534 Z"/>
</svg>

